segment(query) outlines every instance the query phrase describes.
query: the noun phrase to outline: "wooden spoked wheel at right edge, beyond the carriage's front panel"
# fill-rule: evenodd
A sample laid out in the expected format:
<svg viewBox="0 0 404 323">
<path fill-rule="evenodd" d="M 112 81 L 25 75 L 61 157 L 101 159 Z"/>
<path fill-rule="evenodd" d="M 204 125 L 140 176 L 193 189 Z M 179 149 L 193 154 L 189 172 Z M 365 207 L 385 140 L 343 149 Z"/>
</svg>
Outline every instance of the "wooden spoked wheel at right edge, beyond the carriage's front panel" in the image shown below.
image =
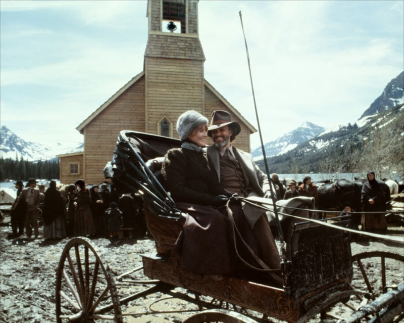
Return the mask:
<svg viewBox="0 0 404 323">
<path fill-rule="evenodd" d="M 352 286 L 370 293 L 372 299 L 385 293 L 386 286 L 398 285 L 404 279 L 404 256 L 385 251 L 363 252 L 352 256 Z"/>
</svg>

